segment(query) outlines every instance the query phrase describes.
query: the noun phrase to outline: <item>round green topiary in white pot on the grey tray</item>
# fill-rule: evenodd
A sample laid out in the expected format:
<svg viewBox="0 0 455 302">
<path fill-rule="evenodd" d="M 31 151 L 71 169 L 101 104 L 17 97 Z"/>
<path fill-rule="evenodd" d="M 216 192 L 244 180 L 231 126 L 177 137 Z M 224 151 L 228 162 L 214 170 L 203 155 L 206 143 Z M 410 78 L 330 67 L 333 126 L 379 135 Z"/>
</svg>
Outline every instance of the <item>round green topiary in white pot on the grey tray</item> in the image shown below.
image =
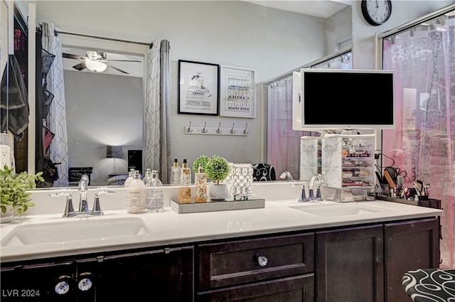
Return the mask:
<svg viewBox="0 0 455 302">
<path fill-rule="evenodd" d="M 213 183 L 208 189 L 208 198 L 212 200 L 225 200 L 231 195 L 230 183 L 220 183 L 229 176 L 230 166 L 226 158 L 214 155 L 205 165 L 205 174 Z"/>
</svg>

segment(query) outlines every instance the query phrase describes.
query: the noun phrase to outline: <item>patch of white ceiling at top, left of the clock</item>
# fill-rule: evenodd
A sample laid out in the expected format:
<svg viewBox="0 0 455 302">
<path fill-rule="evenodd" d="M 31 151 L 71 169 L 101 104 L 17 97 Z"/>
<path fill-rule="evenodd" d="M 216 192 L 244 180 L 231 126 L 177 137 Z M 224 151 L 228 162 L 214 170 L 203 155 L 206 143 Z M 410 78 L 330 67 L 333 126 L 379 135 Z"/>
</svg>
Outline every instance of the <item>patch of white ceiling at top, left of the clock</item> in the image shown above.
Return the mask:
<svg viewBox="0 0 455 302">
<path fill-rule="evenodd" d="M 271 7 L 273 9 L 282 9 L 284 11 L 294 11 L 299 14 L 306 14 L 320 18 L 328 18 L 338 13 L 348 5 L 353 5 L 355 0 L 274 0 L 247 1 L 252 4 Z"/>
</svg>

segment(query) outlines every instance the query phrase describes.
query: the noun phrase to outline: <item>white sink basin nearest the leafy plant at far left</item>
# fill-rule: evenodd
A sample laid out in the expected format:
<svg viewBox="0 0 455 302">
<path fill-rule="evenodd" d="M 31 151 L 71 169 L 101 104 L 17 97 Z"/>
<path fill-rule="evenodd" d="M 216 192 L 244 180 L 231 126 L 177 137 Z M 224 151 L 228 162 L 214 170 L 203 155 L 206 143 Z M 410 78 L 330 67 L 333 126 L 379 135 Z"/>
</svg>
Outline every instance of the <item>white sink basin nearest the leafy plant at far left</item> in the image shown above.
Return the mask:
<svg viewBox="0 0 455 302">
<path fill-rule="evenodd" d="M 19 225 L 1 240 L 0 245 L 6 247 L 85 239 L 105 239 L 147 234 L 148 232 L 149 230 L 141 218 L 47 222 L 38 225 Z"/>
</svg>

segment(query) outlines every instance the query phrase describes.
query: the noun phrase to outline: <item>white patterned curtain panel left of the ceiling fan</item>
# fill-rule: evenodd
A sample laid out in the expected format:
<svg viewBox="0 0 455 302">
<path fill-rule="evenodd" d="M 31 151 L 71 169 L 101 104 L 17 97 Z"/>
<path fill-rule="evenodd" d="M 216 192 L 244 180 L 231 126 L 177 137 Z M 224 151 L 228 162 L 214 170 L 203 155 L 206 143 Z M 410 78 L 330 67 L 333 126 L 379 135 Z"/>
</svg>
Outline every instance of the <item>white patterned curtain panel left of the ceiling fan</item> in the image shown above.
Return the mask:
<svg viewBox="0 0 455 302">
<path fill-rule="evenodd" d="M 50 102 L 48 118 L 43 117 L 43 124 L 54 134 L 50 144 L 50 160 L 58 164 L 58 180 L 54 187 L 68 187 L 68 136 L 65 112 L 65 82 L 63 80 L 62 39 L 55 34 L 54 23 L 42 23 L 42 47 L 48 53 L 55 55 L 45 77 L 46 90 L 53 95 Z"/>
</svg>

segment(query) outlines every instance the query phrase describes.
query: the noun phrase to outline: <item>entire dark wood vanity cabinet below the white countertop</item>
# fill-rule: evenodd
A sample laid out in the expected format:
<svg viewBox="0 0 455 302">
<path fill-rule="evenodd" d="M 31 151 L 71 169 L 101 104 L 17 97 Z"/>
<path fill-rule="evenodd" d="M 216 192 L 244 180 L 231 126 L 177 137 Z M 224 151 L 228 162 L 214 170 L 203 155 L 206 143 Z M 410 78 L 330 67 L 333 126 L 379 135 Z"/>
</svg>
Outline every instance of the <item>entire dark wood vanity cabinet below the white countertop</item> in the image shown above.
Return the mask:
<svg viewBox="0 0 455 302">
<path fill-rule="evenodd" d="M 1 301 L 408 302 L 437 217 L 1 264 Z M 60 293 L 60 294 L 58 294 Z"/>
</svg>

